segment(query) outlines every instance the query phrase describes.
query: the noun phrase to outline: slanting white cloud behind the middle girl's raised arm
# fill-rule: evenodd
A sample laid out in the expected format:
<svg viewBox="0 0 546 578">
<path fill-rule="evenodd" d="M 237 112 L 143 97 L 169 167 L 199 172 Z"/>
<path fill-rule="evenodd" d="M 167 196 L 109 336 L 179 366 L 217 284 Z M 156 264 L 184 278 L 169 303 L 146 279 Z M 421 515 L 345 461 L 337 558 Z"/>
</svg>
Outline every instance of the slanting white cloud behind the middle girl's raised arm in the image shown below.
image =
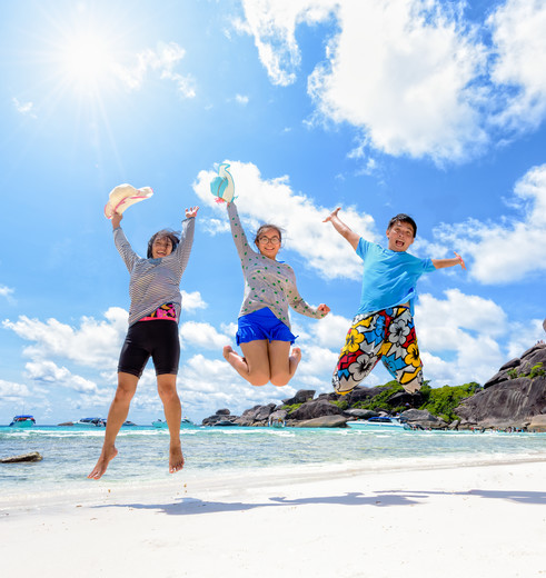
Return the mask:
<svg viewBox="0 0 546 578">
<path fill-rule="evenodd" d="M 288 177 L 264 180 L 255 165 L 228 162 L 238 196 L 236 202 L 239 216 L 249 239 L 252 239 L 252 231 L 261 222 L 274 222 L 286 231 L 286 248 L 301 256 L 307 266 L 321 277 L 360 277 L 360 259 L 330 223 L 322 222 L 334 206 L 316 206 L 310 197 L 292 191 Z M 225 205 L 217 205 L 210 193 L 210 181 L 215 177 L 214 171 L 200 171 L 193 190 L 203 202 L 218 213 L 224 213 L 227 222 Z M 366 239 L 376 239 L 374 219 L 370 216 L 357 212 L 355 208 L 344 207 L 339 217 Z"/>
</svg>

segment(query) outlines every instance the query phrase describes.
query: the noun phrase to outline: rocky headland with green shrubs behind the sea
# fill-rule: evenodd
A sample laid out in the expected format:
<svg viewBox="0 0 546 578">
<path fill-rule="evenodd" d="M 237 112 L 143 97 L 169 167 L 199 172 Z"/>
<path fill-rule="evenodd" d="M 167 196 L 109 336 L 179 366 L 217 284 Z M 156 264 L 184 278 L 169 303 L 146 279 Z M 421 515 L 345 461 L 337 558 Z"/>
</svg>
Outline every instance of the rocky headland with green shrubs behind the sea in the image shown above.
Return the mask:
<svg viewBox="0 0 546 578">
<path fill-rule="evenodd" d="M 502 366 L 484 386 L 476 382 L 406 393 L 397 381 L 357 387 L 347 396 L 301 389 L 282 403 L 255 406 L 241 416 L 219 409 L 203 426 L 346 427 L 347 421 L 398 416 L 417 429 L 546 431 L 546 343 Z"/>
</svg>

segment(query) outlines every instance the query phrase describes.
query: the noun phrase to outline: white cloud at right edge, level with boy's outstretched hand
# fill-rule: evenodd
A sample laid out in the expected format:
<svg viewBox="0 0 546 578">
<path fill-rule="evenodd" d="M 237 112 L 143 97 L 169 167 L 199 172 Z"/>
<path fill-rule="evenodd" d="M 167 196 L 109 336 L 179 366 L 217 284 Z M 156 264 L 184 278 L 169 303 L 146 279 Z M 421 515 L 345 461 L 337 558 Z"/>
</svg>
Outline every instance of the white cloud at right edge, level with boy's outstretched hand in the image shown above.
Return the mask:
<svg viewBox="0 0 546 578">
<path fill-rule="evenodd" d="M 514 193 L 517 218 L 470 219 L 434 231 L 438 242 L 473 259 L 468 273 L 483 283 L 514 282 L 546 270 L 546 165 L 532 168 L 516 182 Z"/>
</svg>

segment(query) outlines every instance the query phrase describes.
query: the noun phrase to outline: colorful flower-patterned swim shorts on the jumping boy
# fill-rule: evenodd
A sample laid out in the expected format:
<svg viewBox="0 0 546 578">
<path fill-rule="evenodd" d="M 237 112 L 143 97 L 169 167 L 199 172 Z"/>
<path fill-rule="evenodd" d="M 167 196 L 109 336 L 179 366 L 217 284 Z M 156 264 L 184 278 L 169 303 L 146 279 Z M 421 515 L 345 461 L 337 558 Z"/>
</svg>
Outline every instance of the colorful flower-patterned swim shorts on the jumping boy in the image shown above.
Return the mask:
<svg viewBox="0 0 546 578">
<path fill-rule="evenodd" d="M 408 393 L 420 389 L 423 363 L 407 307 L 355 317 L 331 379 L 336 393 L 353 391 L 379 359 Z"/>
</svg>

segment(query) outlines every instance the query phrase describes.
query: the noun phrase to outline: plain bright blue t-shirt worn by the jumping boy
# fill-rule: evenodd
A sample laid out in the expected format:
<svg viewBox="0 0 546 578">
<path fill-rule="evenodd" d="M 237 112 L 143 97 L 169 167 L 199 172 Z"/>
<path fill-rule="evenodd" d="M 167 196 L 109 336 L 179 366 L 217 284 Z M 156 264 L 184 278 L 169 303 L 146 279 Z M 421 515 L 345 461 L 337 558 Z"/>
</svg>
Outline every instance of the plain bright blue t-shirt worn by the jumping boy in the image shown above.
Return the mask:
<svg viewBox="0 0 546 578">
<path fill-rule="evenodd" d="M 436 270 L 433 260 L 384 249 L 363 238 L 358 241 L 357 255 L 364 261 L 363 293 L 357 315 L 373 313 L 408 301 L 413 315 L 417 279 Z"/>
</svg>

